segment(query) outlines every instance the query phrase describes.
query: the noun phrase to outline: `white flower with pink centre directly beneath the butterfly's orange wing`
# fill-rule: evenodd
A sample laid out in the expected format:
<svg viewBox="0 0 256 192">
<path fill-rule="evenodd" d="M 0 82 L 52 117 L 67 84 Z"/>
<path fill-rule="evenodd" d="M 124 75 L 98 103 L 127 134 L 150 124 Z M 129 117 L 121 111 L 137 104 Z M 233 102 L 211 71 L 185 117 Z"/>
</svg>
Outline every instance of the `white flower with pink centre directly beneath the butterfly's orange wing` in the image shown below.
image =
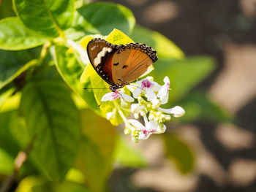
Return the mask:
<svg viewBox="0 0 256 192">
<path fill-rule="evenodd" d="M 132 95 L 135 99 L 140 96 L 140 93 L 145 90 L 146 91 L 146 97 L 148 98 L 148 101 L 153 101 L 154 99 L 157 99 L 156 93 L 154 91 L 159 91 L 161 86 L 153 81 L 153 77 L 146 77 L 146 79 L 140 80 L 137 83 L 137 88 L 135 88 L 135 91 L 133 91 Z"/>
</svg>

